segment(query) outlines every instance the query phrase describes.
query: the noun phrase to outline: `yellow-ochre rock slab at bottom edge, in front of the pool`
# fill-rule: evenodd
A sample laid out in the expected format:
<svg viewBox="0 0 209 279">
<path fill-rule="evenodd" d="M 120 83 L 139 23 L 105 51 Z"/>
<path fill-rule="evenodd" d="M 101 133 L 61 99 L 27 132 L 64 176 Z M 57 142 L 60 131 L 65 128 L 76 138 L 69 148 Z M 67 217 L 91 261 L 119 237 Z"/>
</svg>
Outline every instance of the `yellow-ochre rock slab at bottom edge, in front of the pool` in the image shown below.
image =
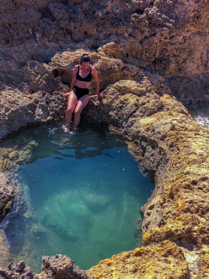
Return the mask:
<svg viewBox="0 0 209 279">
<path fill-rule="evenodd" d="M 90 279 L 189 278 L 188 265 L 181 248 L 168 240 L 102 260 L 87 270 L 87 274 Z"/>
</svg>

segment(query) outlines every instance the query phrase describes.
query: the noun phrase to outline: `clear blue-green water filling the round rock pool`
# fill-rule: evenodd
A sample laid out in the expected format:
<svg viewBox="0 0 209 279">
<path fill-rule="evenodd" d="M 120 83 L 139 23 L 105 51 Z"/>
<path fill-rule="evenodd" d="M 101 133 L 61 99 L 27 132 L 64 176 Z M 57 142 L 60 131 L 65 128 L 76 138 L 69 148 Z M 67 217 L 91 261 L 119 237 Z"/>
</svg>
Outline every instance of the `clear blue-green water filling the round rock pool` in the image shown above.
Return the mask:
<svg viewBox="0 0 209 279">
<path fill-rule="evenodd" d="M 63 124 L 50 124 L 28 129 L 4 147 L 24 151 L 27 142 L 35 145 L 14 173 L 27 209 L 13 214 L 5 228 L 15 261 L 39 273 L 43 255 L 63 254 L 86 270 L 140 245 L 134 220 L 154 186 L 140 173 L 127 140 L 92 126 L 64 133 Z"/>
</svg>

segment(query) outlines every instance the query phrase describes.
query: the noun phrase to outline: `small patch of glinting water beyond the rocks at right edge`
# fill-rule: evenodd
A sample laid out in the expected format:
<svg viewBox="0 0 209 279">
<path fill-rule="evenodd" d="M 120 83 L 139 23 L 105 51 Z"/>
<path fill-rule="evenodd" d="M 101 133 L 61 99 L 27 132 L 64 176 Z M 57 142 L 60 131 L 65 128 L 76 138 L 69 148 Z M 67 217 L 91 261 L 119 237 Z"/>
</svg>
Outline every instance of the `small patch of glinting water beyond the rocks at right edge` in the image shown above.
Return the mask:
<svg viewBox="0 0 209 279">
<path fill-rule="evenodd" d="M 205 129 L 209 129 L 209 100 L 188 104 L 186 108 L 194 120 Z"/>
</svg>

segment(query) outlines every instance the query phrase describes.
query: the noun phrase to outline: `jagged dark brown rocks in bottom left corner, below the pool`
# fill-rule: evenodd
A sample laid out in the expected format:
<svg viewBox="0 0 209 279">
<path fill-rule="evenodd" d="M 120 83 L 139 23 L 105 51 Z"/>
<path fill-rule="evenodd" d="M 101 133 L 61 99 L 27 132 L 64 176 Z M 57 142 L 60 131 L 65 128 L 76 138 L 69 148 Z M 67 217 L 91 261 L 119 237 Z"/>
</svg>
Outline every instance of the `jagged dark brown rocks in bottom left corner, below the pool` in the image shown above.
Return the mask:
<svg viewBox="0 0 209 279">
<path fill-rule="evenodd" d="M 25 265 L 24 261 L 18 264 L 11 262 L 7 270 L 0 270 L 1 279 L 88 279 L 85 271 L 81 271 L 79 266 L 70 258 L 62 255 L 42 258 L 42 272 L 35 274 Z"/>
</svg>

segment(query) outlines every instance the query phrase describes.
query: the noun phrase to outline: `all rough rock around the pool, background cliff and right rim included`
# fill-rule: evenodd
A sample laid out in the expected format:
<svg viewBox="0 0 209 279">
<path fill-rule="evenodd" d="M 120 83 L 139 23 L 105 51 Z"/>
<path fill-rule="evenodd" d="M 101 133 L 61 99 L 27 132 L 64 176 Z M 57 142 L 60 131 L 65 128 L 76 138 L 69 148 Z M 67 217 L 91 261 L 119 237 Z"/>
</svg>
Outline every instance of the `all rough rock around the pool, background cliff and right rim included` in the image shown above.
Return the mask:
<svg viewBox="0 0 209 279">
<path fill-rule="evenodd" d="M 141 208 L 143 247 L 101 261 L 88 276 L 208 278 L 209 133 L 180 103 L 208 97 L 207 1 L 17 0 L 0 9 L 0 138 L 64 117 L 63 93 L 87 52 L 105 99 L 92 96 L 83 121 L 105 122 L 131 138 L 141 164 L 155 173 L 155 191 Z M 1 171 L 12 160 L 4 158 Z M 3 219 L 14 193 L 1 177 Z M 0 274 L 43 275 L 23 263 Z"/>
</svg>

